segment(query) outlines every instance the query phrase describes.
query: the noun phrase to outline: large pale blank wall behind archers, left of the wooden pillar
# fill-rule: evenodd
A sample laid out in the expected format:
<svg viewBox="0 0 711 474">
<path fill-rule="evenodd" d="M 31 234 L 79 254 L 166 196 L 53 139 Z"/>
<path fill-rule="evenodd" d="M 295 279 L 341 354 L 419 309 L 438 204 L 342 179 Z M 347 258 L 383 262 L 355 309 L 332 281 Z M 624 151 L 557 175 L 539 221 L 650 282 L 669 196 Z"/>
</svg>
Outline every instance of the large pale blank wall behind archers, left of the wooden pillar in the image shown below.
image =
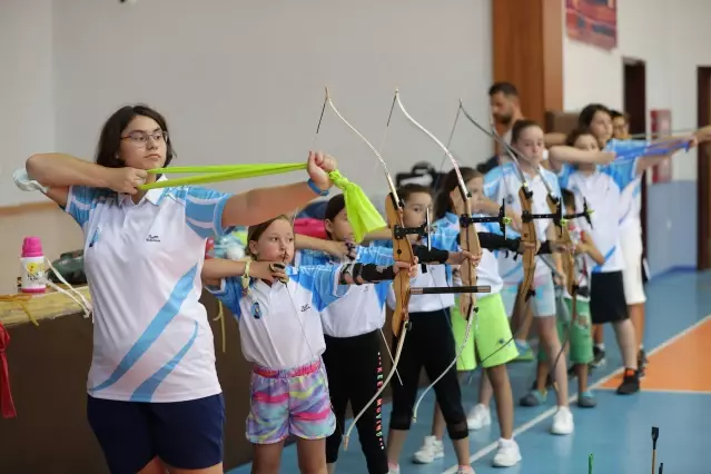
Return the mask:
<svg viewBox="0 0 711 474">
<path fill-rule="evenodd" d="M 490 0 L 62 0 L 53 48 L 59 150 L 90 157 L 102 121 L 146 101 L 166 115 L 180 165 L 305 160 L 325 85 L 376 147 L 396 87 L 446 141 L 460 97 L 486 117 L 492 80 Z M 315 146 L 352 180 L 386 190 L 375 156 L 334 113 Z M 453 149 L 478 162 L 492 146 L 460 121 Z M 395 174 L 419 160 L 438 167 L 442 152 L 396 112 L 384 157 Z"/>
</svg>

